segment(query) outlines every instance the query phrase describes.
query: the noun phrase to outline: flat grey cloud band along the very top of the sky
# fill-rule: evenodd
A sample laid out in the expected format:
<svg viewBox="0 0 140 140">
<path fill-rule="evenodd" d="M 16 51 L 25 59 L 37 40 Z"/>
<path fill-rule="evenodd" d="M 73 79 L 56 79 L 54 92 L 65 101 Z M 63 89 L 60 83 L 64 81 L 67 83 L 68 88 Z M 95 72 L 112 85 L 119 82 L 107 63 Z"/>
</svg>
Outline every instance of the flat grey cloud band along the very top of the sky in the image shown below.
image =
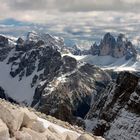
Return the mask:
<svg viewBox="0 0 140 140">
<path fill-rule="evenodd" d="M 13 10 L 139 10 L 140 0 L 1 0 Z"/>
</svg>

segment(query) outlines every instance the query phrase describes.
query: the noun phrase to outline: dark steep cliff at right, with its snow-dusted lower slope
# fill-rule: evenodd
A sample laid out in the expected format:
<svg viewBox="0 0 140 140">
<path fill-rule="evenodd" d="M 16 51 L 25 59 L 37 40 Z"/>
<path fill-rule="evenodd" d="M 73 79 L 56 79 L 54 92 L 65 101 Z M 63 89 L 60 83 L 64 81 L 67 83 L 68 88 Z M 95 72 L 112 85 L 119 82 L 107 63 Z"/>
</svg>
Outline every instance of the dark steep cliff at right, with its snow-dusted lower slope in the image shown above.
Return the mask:
<svg viewBox="0 0 140 140">
<path fill-rule="evenodd" d="M 93 120 L 93 133 L 108 140 L 140 138 L 139 78 L 128 72 L 119 74 L 93 103 L 86 119 Z"/>
</svg>

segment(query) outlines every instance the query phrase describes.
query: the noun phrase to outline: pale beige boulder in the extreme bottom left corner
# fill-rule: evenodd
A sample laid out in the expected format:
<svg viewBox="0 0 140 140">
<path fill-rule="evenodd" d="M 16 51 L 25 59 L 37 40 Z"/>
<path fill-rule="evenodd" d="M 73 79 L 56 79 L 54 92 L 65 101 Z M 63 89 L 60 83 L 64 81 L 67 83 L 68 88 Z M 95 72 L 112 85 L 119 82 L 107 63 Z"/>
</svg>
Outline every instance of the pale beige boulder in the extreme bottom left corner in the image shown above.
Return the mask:
<svg viewBox="0 0 140 140">
<path fill-rule="evenodd" d="M 6 124 L 0 119 L 0 140 L 9 139 L 9 130 Z"/>
</svg>

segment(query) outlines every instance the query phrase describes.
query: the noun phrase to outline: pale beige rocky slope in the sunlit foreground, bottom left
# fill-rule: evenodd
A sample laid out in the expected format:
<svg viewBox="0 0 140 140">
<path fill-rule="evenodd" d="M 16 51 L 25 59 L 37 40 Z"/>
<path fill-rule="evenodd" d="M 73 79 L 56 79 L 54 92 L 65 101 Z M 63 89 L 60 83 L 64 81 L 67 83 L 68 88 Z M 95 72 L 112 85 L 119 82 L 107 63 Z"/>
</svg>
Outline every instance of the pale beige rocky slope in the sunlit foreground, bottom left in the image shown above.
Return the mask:
<svg viewBox="0 0 140 140">
<path fill-rule="evenodd" d="M 60 131 L 61 130 L 61 131 Z M 39 118 L 27 108 L 0 99 L 0 140 L 104 140 Z"/>
</svg>

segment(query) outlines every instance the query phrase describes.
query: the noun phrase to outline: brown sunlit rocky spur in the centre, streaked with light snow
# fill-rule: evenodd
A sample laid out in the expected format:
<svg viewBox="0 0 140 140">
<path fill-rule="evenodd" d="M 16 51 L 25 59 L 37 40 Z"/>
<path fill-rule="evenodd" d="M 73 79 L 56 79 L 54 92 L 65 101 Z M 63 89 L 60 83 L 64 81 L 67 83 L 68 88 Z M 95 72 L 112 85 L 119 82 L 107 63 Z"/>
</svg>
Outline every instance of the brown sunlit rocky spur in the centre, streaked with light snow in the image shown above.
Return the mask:
<svg viewBox="0 0 140 140">
<path fill-rule="evenodd" d="M 68 58 L 68 64 L 72 63 L 75 66 L 75 60 Z M 92 98 L 105 88 L 110 77 L 104 71 L 89 64 L 80 67 L 77 65 L 75 69 L 69 68 L 68 64 L 64 60 L 60 71 L 63 73 L 67 68 L 69 70 L 67 73 L 63 75 L 59 73 L 48 86 L 38 89 L 39 91 L 42 89 L 39 110 L 72 123 L 74 117 L 85 117 L 90 109 Z M 38 98 L 38 92 L 34 98 Z"/>
</svg>

